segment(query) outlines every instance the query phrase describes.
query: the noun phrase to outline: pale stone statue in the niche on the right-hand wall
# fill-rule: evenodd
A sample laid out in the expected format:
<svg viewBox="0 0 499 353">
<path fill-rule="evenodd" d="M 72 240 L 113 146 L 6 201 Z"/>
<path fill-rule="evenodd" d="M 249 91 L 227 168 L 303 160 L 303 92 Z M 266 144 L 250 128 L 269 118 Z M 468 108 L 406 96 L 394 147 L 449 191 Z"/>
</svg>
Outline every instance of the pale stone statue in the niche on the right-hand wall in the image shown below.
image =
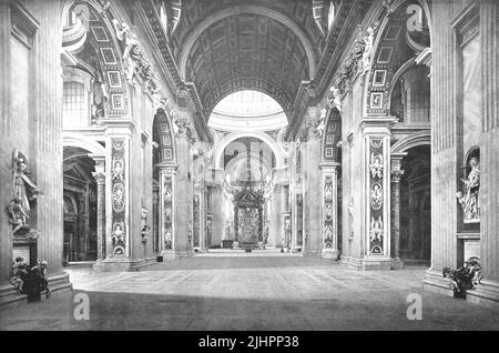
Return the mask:
<svg viewBox="0 0 499 353">
<path fill-rule="evenodd" d="M 479 220 L 479 189 L 480 189 L 480 163 L 476 157 L 469 161 L 471 171 L 468 179 L 461 179 L 465 184 L 465 194 L 457 192 L 457 198 L 465 212 L 465 222 L 476 222 Z"/>
</svg>

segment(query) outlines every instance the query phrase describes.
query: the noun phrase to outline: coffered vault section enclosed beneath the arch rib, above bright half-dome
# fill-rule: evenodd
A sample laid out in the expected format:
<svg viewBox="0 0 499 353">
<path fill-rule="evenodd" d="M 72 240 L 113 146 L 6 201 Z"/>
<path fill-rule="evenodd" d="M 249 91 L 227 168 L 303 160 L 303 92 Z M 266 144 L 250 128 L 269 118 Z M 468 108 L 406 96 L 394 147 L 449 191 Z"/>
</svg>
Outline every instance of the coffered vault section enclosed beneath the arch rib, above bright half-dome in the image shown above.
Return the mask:
<svg viewBox="0 0 499 353">
<path fill-rule="evenodd" d="M 289 110 L 299 83 L 309 79 L 298 38 L 265 16 L 236 14 L 214 22 L 189 53 L 186 80 L 194 82 L 206 112 L 225 95 L 257 90 Z"/>
</svg>

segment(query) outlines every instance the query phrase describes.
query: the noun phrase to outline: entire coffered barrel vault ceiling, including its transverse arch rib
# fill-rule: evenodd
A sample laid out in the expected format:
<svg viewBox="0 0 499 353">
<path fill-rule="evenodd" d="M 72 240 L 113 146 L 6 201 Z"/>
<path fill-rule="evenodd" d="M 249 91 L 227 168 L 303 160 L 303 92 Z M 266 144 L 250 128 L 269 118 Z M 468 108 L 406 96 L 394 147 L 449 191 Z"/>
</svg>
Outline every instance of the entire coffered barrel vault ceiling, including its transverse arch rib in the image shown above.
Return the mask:
<svg viewBox="0 0 499 353">
<path fill-rule="evenodd" d="M 181 77 L 204 112 L 240 90 L 257 90 L 289 112 L 324 47 L 309 1 L 183 1 L 172 38 Z"/>
</svg>

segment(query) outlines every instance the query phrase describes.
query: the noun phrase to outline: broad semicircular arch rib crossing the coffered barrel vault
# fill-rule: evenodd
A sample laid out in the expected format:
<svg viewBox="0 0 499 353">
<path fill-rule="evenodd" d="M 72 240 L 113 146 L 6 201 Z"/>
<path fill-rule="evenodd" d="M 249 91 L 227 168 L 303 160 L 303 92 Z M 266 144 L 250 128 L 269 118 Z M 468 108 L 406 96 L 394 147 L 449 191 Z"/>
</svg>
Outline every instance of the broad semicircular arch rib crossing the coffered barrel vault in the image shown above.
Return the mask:
<svg viewBox="0 0 499 353">
<path fill-rule="evenodd" d="M 234 16 L 234 14 L 242 14 L 242 13 L 252 13 L 252 14 L 259 14 L 267 18 L 271 18 L 277 22 L 281 22 L 282 24 L 286 26 L 299 40 L 302 43 L 305 53 L 308 59 L 308 74 L 310 79 L 315 75 L 316 70 L 316 58 L 315 58 L 315 51 L 312 46 L 312 43 L 307 40 L 306 36 L 303 33 L 303 31 L 296 26 L 288 17 L 267 8 L 264 8 L 262 6 L 253 6 L 253 4 L 246 4 L 246 6 L 236 6 L 232 8 L 227 8 L 224 10 L 221 10 L 205 20 L 201 22 L 186 38 L 183 49 L 179 56 L 179 71 L 180 75 L 183 80 L 185 80 L 185 71 L 187 67 L 187 59 L 189 54 L 191 52 L 192 47 L 194 46 L 194 42 L 196 39 L 212 24 L 216 21 L 223 20 L 226 17 Z"/>
</svg>

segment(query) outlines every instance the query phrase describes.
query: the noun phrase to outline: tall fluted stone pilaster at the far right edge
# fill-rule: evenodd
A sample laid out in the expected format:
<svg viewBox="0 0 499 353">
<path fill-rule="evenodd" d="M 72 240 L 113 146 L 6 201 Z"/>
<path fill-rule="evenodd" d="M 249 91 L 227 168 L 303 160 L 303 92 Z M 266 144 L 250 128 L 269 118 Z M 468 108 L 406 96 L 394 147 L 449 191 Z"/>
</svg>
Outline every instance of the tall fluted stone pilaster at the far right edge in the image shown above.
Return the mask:
<svg viewBox="0 0 499 353">
<path fill-rule="evenodd" d="M 467 300 L 499 301 L 499 3 L 479 2 L 481 58 L 480 259 L 483 281 Z"/>
</svg>

